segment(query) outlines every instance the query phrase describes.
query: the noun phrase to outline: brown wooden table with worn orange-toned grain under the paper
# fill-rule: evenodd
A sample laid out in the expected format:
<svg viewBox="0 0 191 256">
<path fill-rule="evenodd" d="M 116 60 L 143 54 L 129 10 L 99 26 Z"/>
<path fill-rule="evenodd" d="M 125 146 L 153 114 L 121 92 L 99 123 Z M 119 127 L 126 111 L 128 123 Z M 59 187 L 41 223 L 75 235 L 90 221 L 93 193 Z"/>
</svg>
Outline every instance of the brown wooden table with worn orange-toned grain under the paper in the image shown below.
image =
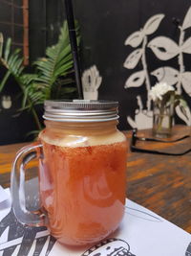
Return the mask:
<svg viewBox="0 0 191 256">
<path fill-rule="evenodd" d="M 190 128 L 176 126 L 171 139 L 190 133 Z M 151 130 L 138 131 L 138 136 L 151 136 Z M 130 141 L 131 132 L 127 132 Z M 0 146 L 0 184 L 10 186 L 11 162 L 24 144 Z M 176 143 L 140 142 L 139 147 L 160 151 L 184 151 L 191 139 Z M 129 152 L 127 160 L 127 197 L 191 232 L 191 153 L 164 156 Z"/>
</svg>

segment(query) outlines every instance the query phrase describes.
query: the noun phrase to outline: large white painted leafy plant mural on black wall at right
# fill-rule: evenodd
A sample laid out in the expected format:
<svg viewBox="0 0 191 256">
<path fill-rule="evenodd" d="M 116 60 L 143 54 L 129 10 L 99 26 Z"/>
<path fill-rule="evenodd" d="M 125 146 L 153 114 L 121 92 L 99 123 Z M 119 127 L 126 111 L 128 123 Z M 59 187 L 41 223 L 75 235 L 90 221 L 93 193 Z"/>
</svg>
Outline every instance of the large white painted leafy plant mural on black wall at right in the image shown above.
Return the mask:
<svg viewBox="0 0 191 256">
<path fill-rule="evenodd" d="M 191 7 L 186 13 L 183 23 L 179 26 L 180 38 L 179 42 L 175 42 L 173 39 L 166 36 L 157 36 L 151 41 L 148 41 L 149 35 L 154 34 L 160 25 L 160 22 L 164 18 L 164 14 L 157 14 L 148 19 L 145 23 L 143 29 L 138 32 L 129 35 L 125 41 L 125 45 L 130 45 L 134 50 L 125 60 L 124 67 L 127 69 L 134 69 L 138 62 L 141 62 L 142 69 L 132 74 L 125 83 L 125 88 L 139 87 L 146 85 L 147 90 L 147 102 L 146 109 L 143 109 L 142 101 L 140 96 L 138 99 L 138 107 L 135 111 L 135 120 L 130 116 L 127 117 L 129 125 L 133 128 L 151 128 L 152 127 L 152 110 L 151 110 L 151 99 L 148 94 L 151 89 L 150 76 L 155 76 L 158 81 L 166 81 L 170 85 L 176 87 L 176 91 L 181 94 L 182 88 L 184 92 L 191 97 L 191 72 L 185 71 L 183 63 L 183 54 L 191 54 L 191 37 L 184 40 L 185 31 L 191 28 Z M 178 64 L 180 69 L 177 70 L 171 66 L 161 66 L 158 69 L 149 73 L 148 63 L 146 59 L 146 50 L 150 48 L 153 54 L 159 60 L 169 60 L 171 58 L 178 58 Z M 187 107 L 187 118 L 185 118 L 180 107 L 176 107 L 176 112 L 180 119 L 186 123 L 186 125 L 191 125 L 191 112 L 189 107 Z"/>
</svg>

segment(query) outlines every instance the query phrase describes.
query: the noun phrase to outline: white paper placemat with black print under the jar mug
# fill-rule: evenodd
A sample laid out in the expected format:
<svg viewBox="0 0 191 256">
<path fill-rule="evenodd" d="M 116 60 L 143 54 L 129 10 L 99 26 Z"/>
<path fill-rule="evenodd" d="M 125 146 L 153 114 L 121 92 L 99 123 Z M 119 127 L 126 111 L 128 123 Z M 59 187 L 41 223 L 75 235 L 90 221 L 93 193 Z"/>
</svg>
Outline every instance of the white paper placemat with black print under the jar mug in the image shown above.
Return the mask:
<svg viewBox="0 0 191 256">
<path fill-rule="evenodd" d="M 191 256 L 190 243 L 191 235 L 180 227 L 127 199 L 124 219 L 111 238 L 70 249 L 45 227 L 24 227 L 16 221 L 11 199 L 0 203 L 0 256 Z"/>
</svg>

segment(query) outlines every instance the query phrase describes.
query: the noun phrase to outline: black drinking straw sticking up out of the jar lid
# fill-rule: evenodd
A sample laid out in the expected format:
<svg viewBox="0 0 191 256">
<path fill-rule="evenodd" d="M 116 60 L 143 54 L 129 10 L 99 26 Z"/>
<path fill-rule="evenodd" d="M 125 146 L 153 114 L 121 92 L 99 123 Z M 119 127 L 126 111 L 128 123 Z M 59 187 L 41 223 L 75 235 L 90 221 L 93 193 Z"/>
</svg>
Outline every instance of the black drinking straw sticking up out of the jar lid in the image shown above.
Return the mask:
<svg viewBox="0 0 191 256">
<path fill-rule="evenodd" d="M 69 27 L 69 37 L 71 41 L 71 50 L 74 59 L 74 75 L 75 81 L 77 85 L 78 97 L 79 99 L 83 99 L 83 90 L 81 84 L 81 72 L 80 72 L 80 65 L 79 65 L 79 58 L 77 52 L 77 40 L 75 34 L 75 27 L 74 27 L 74 12 L 73 12 L 73 3 L 72 0 L 65 0 L 65 7 L 66 7 L 66 17 L 68 21 Z"/>
</svg>

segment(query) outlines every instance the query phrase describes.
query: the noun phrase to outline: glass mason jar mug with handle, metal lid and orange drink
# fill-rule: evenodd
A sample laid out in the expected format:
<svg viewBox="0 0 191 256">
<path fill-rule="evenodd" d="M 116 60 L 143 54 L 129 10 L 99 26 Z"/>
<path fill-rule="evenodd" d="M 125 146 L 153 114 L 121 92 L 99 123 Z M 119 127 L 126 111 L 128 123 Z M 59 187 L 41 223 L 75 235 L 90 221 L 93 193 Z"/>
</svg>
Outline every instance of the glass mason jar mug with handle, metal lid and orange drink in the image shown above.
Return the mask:
<svg viewBox="0 0 191 256">
<path fill-rule="evenodd" d="M 63 244 L 96 243 L 124 213 L 127 143 L 117 130 L 117 103 L 45 102 L 46 128 L 16 155 L 11 197 L 18 221 L 46 225 Z M 38 213 L 26 208 L 24 171 L 39 159 Z"/>
</svg>

